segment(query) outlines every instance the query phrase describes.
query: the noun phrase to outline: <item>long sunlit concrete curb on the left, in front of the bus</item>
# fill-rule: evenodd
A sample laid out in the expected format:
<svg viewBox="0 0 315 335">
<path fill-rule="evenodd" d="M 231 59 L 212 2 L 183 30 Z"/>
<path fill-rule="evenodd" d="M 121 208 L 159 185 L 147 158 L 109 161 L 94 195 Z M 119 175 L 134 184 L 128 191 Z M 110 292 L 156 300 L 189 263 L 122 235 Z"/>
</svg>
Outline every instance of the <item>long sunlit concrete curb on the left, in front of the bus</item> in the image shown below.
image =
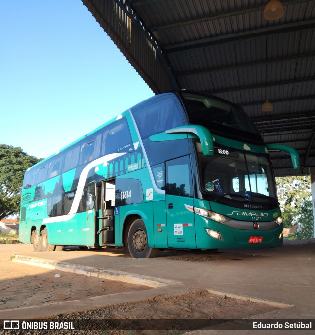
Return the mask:
<svg viewBox="0 0 315 335">
<path fill-rule="evenodd" d="M 49 268 L 53 270 L 60 270 L 63 272 L 71 272 L 76 274 L 83 274 L 88 277 L 102 278 L 108 280 L 123 281 L 129 284 L 137 284 L 149 286 L 152 288 L 163 287 L 168 285 L 178 284 L 176 281 L 153 278 L 135 273 L 107 270 L 103 268 L 94 268 L 83 265 L 71 264 L 67 262 L 58 262 L 53 260 L 42 259 L 38 257 L 29 257 L 23 255 L 14 255 L 10 261 L 17 263 L 29 264 L 41 268 Z"/>
</svg>

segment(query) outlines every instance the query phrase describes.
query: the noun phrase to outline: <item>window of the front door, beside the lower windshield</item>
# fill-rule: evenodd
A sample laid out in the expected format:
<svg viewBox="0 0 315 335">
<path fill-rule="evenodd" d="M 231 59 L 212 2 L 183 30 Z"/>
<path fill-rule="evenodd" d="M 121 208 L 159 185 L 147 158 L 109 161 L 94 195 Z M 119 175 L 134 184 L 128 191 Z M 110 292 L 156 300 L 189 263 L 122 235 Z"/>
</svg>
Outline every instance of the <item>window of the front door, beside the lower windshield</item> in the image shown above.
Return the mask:
<svg viewBox="0 0 315 335">
<path fill-rule="evenodd" d="M 166 194 L 193 197 L 189 156 L 166 162 Z"/>
</svg>

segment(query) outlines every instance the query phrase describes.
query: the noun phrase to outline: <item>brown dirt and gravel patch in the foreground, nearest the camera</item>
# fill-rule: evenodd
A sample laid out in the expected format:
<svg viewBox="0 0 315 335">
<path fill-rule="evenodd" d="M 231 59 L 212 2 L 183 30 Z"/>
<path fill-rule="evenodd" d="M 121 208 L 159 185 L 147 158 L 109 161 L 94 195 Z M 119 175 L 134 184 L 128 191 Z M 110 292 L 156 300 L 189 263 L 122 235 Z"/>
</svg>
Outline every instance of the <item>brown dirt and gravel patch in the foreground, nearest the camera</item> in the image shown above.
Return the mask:
<svg viewBox="0 0 315 335">
<path fill-rule="evenodd" d="M 77 330 L 32 331 L 32 334 L 180 335 L 190 330 L 216 327 L 228 320 L 250 318 L 276 309 L 277 307 L 265 303 L 219 296 L 201 290 L 173 296 L 160 295 L 149 300 L 81 313 L 55 315 L 53 321 L 73 322 Z M 8 331 L 5 334 L 30 333 Z"/>
</svg>

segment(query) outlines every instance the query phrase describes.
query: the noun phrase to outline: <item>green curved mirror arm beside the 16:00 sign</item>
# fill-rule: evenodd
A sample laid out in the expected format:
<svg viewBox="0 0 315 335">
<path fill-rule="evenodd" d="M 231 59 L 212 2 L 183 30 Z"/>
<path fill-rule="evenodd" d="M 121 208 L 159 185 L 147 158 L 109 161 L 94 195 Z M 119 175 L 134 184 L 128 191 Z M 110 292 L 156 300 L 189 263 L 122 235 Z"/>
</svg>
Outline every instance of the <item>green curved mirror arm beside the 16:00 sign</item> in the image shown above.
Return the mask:
<svg viewBox="0 0 315 335">
<path fill-rule="evenodd" d="M 186 134 L 195 134 L 199 139 L 202 147 L 202 152 L 205 156 L 213 156 L 213 139 L 212 134 L 209 129 L 199 125 L 188 125 L 188 126 L 180 126 L 171 128 L 166 130 L 167 134 L 178 134 L 178 133 L 186 133 Z"/>
</svg>

